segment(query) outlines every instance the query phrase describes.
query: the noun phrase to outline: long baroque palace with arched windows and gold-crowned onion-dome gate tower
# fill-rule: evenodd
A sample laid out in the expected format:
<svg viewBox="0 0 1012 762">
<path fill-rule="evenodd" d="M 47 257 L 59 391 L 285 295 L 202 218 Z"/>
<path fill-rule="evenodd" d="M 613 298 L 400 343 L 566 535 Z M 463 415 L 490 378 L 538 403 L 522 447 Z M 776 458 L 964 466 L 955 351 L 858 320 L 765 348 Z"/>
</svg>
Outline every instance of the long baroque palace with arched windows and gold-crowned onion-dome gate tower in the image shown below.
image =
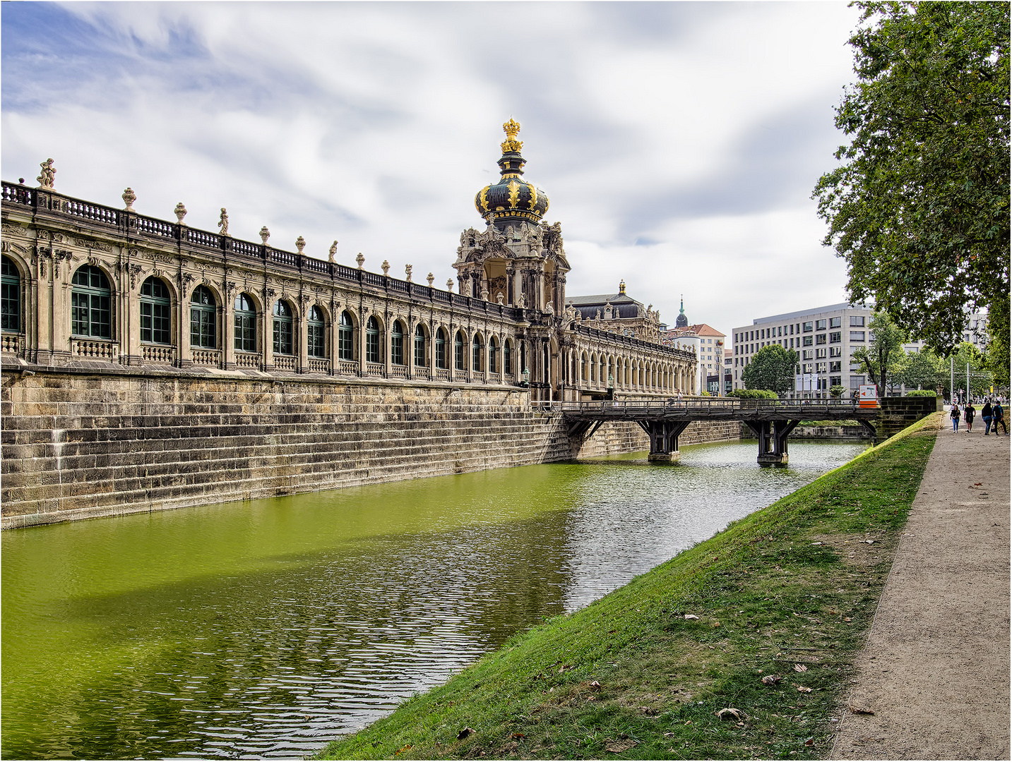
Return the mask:
<svg viewBox="0 0 1012 762">
<path fill-rule="evenodd" d="M 586 319 L 549 199 L 522 179 L 519 125 L 504 125 L 501 178 L 460 235 L 458 291 L 3 183 L 2 352 L 22 364 L 208 373 L 321 374 L 526 386 L 533 401 L 696 393 L 694 353 L 663 346 L 659 316 Z M 386 263 L 385 263 L 386 265 Z M 451 285 L 449 282 L 447 285 Z M 623 293 L 624 289 L 620 289 Z M 612 302 L 619 306 L 619 300 Z M 596 315 L 595 315 L 596 316 Z M 624 315 L 623 315 L 624 316 Z M 631 320 L 630 320 L 631 322 Z M 634 335 L 635 334 L 635 335 Z M 9 368 L 9 365 L 5 365 Z"/>
</svg>

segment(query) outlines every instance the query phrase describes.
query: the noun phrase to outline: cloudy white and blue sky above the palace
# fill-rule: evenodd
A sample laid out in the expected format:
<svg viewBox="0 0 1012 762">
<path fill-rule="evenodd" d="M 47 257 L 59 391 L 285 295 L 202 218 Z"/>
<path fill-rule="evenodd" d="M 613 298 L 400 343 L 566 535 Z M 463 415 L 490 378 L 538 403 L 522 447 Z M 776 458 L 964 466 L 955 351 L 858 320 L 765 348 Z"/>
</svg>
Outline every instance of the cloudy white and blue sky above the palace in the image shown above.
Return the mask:
<svg viewBox="0 0 1012 762">
<path fill-rule="evenodd" d="M 844 300 L 810 199 L 844 2 L 4 3 L 2 175 L 436 284 L 522 124 L 567 293 L 724 332 Z"/>
</svg>

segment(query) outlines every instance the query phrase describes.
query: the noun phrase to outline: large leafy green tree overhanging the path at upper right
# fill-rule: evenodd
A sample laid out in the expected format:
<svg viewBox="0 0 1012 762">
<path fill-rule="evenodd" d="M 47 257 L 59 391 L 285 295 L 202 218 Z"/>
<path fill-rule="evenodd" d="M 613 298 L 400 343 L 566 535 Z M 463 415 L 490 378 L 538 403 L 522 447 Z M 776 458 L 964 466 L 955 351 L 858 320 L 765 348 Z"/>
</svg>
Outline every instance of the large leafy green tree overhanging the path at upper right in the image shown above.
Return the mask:
<svg viewBox="0 0 1012 762">
<path fill-rule="evenodd" d="M 1009 3 L 863 2 L 857 83 L 836 109 L 850 144 L 813 193 L 848 297 L 941 354 L 987 307 L 1009 369 Z M 1000 375 L 1001 378 L 1001 375 Z"/>
</svg>

